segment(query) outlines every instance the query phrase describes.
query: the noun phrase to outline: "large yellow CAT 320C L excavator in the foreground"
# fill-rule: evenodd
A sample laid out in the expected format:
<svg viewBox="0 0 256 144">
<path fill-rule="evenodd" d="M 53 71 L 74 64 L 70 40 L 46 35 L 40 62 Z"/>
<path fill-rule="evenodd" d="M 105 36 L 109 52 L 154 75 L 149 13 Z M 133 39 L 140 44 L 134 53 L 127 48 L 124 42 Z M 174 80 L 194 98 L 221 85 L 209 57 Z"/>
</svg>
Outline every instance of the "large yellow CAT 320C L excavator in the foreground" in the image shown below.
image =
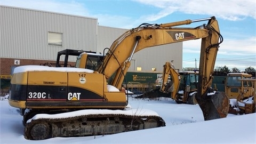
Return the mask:
<svg viewBox="0 0 256 144">
<path fill-rule="evenodd" d="M 201 21 L 207 23 L 195 28 L 177 27 Z M 198 38 L 202 38 L 202 47 L 196 100 L 205 120 L 226 117 L 228 98 L 223 93 L 211 93 L 210 88 L 222 42 L 215 17 L 161 25 L 142 23 L 118 37 L 105 49 L 106 55 L 80 54 L 75 68 L 17 67 L 11 79 L 9 104 L 23 111 L 25 138 L 31 140 L 165 126 L 154 111 L 141 109 L 141 113 L 134 113 L 136 110 L 127 107 L 128 97 L 121 91 L 124 76 L 134 53 L 147 47 Z M 108 82 L 112 75 L 113 81 Z"/>
</svg>

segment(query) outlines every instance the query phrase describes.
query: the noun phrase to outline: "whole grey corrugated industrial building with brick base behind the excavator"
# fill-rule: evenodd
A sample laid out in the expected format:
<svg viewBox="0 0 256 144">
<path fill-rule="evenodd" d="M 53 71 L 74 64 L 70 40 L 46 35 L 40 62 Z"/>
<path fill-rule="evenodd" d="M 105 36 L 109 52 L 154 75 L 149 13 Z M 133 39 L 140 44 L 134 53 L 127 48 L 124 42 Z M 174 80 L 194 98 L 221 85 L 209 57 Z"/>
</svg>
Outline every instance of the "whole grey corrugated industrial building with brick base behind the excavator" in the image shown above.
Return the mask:
<svg viewBox="0 0 256 144">
<path fill-rule="evenodd" d="M 97 18 L 4 5 L 0 5 L 0 19 L 1 78 L 10 78 L 18 66 L 54 62 L 58 51 L 65 49 L 103 53 L 129 30 L 98 26 Z M 129 70 L 162 71 L 165 61 L 182 70 L 182 42 L 135 53 Z"/>
</svg>

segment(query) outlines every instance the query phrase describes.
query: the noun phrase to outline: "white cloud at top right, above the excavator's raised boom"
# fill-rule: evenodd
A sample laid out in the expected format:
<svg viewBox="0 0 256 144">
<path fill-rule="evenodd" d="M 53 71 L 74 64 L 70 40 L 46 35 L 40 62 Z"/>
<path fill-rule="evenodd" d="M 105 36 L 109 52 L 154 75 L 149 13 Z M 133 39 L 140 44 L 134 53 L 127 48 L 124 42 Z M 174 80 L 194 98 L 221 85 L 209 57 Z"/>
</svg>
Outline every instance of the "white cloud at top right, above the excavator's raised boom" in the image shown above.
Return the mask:
<svg viewBox="0 0 256 144">
<path fill-rule="evenodd" d="M 218 0 L 202 0 L 202 1 L 144 1 L 138 0 L 141 4 L 155 6 L 162 9 L 157 14 L 148 15 L 152 21 L 156 21 L 166 15 L 174 12 L 186 14 L 207 14 L 215 15 L 224 20 L 237 21 L 246 17 L 256 19 L 255 1 L 218 1 Z M 150 19 L 148 19 L 150 20 Z"/>
</svg>

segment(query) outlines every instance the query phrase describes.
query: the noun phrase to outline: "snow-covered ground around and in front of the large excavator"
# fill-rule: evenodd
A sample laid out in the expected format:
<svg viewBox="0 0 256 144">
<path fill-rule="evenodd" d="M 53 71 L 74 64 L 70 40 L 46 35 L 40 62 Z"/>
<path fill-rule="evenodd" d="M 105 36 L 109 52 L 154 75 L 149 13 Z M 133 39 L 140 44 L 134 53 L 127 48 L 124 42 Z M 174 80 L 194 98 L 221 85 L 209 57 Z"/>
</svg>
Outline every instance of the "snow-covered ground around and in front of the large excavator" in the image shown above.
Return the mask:
<svg viewBox="0 0 256 144">
<path fill-rule="evenodd" d="M 198 105 L 177 104 L 170 98 L 158 100 L 129 99 L 135 109 L 156 111 L 165 127 L 96 137 L 26 140 L 22 116 L 0 100 L 0 143 L 256 143 L 256 114 L 231 115 L 204 121 Z"/>
</svg>

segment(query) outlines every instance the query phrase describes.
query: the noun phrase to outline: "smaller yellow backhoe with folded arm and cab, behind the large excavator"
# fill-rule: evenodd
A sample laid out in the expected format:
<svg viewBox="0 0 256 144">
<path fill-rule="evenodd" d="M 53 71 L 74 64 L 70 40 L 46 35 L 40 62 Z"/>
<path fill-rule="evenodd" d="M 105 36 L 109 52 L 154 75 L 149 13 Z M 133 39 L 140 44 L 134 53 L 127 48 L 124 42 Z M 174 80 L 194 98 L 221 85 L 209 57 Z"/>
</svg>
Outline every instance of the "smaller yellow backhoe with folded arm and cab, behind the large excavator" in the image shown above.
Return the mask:
<svg viewBox="0 0 256 144">
<path fill-rule="evenodd" d="M 177 72 L 170 62 L 165 62 L 163 67 L 160 92 L 168 94 L 177 103 L 195 105 L 197 103 L 195 97 L 197 93 L 198 71 Z"/>
</svg>

